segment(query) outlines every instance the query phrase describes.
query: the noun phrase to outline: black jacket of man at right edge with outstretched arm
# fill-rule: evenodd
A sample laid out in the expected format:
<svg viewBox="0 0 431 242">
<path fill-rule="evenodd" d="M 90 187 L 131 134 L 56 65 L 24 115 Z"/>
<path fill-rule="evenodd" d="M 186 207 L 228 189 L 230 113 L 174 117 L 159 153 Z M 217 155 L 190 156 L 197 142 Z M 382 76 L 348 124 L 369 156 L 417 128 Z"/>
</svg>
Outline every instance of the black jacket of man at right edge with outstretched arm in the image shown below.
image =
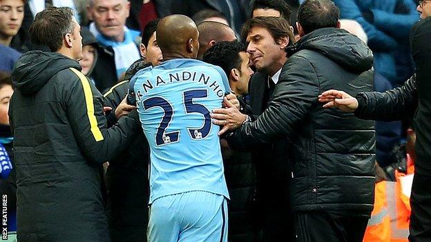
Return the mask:
<svg viewBox="0 0 431 242">
<path fill-rule="evenodd" d="M 414 117 L 416 130 L 415 172 L 431 172 L 431 96 L 430 96 L 430 53 L 431 18 L 416 23 L 410 32 L 412 56 L 416 64 L 416 74 L 401 88 L 386 92 L 365 92 L 359 94 L 357 117 L 383 121 L 401 120 Z"/>
</svg>

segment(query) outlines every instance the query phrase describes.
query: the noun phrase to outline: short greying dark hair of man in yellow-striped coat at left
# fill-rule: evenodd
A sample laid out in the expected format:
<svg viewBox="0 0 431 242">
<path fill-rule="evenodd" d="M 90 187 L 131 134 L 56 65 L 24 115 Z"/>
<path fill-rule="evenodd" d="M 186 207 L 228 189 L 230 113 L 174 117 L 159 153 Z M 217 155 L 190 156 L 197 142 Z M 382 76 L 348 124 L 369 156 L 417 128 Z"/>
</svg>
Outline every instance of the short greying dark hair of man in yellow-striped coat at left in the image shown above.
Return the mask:
<svg viewBox="0 0 431 242">
<path fill-rule="evenodd" d="M 50 7 L 36 14 L 28 30 L 30 40 L 39 46 L 48 46 L 55 52 L 63 45 L 63 38 L 73 32 L 73 10 L 68 7 Z"/>
</svg>

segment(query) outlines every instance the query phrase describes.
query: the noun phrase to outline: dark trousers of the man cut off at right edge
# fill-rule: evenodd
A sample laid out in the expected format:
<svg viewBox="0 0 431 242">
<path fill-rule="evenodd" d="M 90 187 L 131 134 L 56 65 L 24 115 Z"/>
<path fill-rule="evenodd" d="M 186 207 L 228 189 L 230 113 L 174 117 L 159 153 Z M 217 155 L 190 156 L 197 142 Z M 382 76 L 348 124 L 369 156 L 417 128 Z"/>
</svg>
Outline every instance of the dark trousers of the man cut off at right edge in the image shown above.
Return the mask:
<svg viewBox="0 0 431 242">
<path fill-rule="evenodd" d="M 431 241 L 431 176 L 414 174 L 410 205 L 410 236 L 409 241 Z"/>
</svg>

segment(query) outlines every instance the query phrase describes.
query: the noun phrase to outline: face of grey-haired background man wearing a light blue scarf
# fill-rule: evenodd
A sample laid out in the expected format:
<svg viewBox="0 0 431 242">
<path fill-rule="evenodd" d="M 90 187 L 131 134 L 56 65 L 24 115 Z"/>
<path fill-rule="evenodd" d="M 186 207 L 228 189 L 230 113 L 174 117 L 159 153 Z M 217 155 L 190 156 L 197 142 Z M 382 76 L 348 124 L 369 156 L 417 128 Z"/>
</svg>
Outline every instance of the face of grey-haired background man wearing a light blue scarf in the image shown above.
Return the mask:
<svg viewBox="0 0 431 242">
<path fill-rule="evenodd" d="M 105 37 L 122 42 L 129 8 L 126 0 L 93 0 L 88 6 L 88 17 Z"/>
</svg>

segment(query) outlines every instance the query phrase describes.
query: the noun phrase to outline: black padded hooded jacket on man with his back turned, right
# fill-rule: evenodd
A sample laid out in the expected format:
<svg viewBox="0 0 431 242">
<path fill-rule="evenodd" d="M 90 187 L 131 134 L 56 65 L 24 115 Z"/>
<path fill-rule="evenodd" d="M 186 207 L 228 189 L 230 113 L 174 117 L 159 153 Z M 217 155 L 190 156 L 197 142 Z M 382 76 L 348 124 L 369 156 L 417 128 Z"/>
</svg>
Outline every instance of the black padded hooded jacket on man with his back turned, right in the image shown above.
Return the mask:
<svg viewBox="0 0 431 242">
<path fill-rule="evenodd" d="M 287 52 L 289 59 L 268 108 L 256 121 L 229 134 L 229 145 L 250 148 L 287 139 L 292 210 L 370 215 L 374 122 L 324 109 L 318 95 L 329 89 L 351 94 L 372 90 L 371 50 L 345 30 L 323 28 L 302 37 Z"/>
</svg>

